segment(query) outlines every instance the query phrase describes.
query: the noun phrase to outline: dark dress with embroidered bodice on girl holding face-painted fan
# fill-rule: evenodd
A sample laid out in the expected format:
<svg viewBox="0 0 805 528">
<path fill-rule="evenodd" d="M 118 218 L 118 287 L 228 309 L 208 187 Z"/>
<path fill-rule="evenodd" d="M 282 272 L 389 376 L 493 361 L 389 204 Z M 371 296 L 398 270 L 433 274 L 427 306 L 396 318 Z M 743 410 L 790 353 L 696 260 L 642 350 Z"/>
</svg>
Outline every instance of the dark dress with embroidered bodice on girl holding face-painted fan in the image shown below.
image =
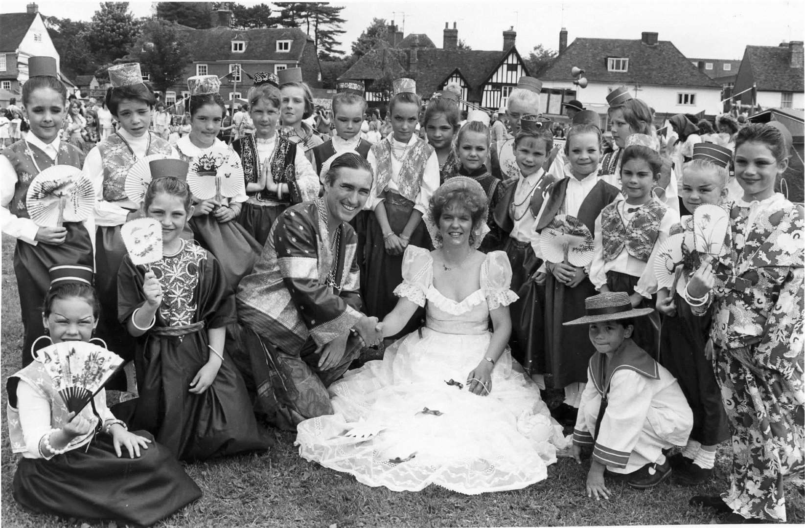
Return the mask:
<svg viewBox="0 0 805 528">
<path fill-rule="evenodd" d="M 246 386 L 228 352 L 223 351 L 221 369 L 206 391 L 188 391 L 211 354 L 206 329 L 235 321 L 234 296 L 218 261 L 186 242 L 151 268 L 165 297 L 155 327 L 137 339 L 140 397 L 132 427 L 153 432 L 180 460 L 269 448 L 272 442 L 258 431 Z M 118 276 L 121 322 L 145 301 L 144 274 L 126 256 Z"/>
</svg>

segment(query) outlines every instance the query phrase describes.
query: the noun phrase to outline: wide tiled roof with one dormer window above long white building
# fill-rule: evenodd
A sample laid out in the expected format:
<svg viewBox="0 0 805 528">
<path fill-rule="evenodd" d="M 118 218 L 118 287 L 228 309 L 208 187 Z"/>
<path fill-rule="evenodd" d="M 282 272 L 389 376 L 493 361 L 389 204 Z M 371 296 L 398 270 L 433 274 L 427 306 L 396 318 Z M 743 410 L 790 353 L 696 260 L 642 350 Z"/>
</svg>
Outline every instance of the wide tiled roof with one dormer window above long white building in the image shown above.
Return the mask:
<svg viewBox="0 0 805 528">
<path fill-rule="evenodd" d="M 629 59 L 629 71 L 609 72 L 609 57 Z M 578 38 L 539 78 L 572 80 L 570 70 L 574 66 L 583 68 L 590 82 L 719 88 L 719 84 L 700 72 L 667 40 L 648 45 L 640 39 Z"/>
</svg>

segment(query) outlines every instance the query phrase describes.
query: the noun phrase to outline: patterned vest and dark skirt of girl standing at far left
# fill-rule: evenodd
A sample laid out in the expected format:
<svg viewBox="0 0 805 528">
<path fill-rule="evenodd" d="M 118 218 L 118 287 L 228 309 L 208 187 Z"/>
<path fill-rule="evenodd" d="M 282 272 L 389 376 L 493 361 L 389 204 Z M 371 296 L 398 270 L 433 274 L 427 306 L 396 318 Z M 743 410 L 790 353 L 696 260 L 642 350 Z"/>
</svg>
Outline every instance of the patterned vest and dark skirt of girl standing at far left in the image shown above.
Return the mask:
<svg viewBox="0 0 805 528">
<path fill-rule="evenodd" d="M 0 153 L 8 158 L 17 173 L 9 211 L 20 218 L 29 217 L 25 197 L 31 180 L 39 174 L 37 166 L 42 170 L 54 165 L 81 168 L 84 163 L 84 154 L 66 141 L 59 145 L 56 162 L 35 145 L 25 141 L 17 141 Z M 14 248 L 14 275 L 17 277 L 19 305 L 23 317 L 23 366 L 33 361 L 31 346 L 36 338 L 44 334 L 42 305 L 47 289 L 50 288 L 47 270 L 56 264 L 93 265 L 92 239 L 84 224 L 64 223 L 64 227 L 67 229 L 67 237 L 62 244 L 56 246 L 40 242 L 33 245 L 18 239 Z M 37 343 L 37 348 L 47 344 L 47 340 L 43 339 Z"/>
</svg>

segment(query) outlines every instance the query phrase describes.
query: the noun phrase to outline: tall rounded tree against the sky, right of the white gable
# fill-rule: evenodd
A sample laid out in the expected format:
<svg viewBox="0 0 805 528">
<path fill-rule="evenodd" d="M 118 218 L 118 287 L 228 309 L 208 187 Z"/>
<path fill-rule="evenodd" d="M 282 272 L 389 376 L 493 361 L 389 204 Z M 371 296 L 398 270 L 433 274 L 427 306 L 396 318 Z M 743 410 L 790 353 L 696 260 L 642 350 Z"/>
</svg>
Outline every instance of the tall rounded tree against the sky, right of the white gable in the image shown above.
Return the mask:
<svg viewBox="0 0 805 528">
<path fill-rule="evenodd" d="M 129 2 L 103 2 L 88 30 L 85 39 L 97 63 L 113 63 L 128 54 L 139 28 Z"/>
</svg>

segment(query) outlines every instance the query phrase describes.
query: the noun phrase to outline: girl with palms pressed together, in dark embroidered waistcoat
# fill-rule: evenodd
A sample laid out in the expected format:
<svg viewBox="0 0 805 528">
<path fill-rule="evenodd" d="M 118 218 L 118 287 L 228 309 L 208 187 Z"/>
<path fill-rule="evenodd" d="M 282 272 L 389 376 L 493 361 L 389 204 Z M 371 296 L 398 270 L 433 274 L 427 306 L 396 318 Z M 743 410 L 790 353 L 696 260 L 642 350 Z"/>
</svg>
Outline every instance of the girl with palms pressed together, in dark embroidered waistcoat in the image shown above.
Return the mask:
<svg viewBox="0 0 805 528">
<path fill-rule="evenodd" d="M 277 76 L 258 72 L 250 88 L 249 113 L 253 134 L 236 139 L 232 148 L 241 157 L 246 194 L 237 219 L 258 244 L 266 244 L 268 232 L 280 213 L 294 203 L 319 195 L 319 178 L 303 149 L 277 133 L 280 94 Z"/>
</svg>

